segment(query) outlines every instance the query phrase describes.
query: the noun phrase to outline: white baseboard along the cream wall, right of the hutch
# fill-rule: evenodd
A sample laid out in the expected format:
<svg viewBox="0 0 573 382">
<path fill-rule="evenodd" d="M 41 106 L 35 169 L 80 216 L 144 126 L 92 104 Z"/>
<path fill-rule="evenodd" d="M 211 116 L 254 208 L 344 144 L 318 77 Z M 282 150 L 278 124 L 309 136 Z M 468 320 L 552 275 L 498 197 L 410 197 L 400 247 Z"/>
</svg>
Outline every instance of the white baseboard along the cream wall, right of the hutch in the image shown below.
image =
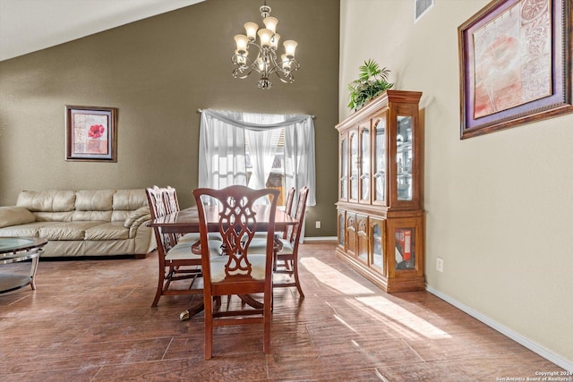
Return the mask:
<svg viewBox="0 0 573 382">
<path fill-rule="evenodd" d="M 517 334 L 516 332 L 509 329 L 508 327 L 504 327 L 500 323 L 492 320 L 492 318 L 484 316 L 482 313 L 471 309 L 470 307 L 464 305 L 463 303 L 461 303 L 457 300 L 452 299 L 447 294 L 441 293 L 441 292 L 433 289 L 431 286 L 426 285 L 426 291 L 436 295 L 437 297 L 440 297 L 440 299 L 443 301 L 449 302 L 451 305 L 455 306 L 459 310 L 465 311 L 467 314 L 469 314 L 473 318 L 476 318 L 476 319 L 482 321 L 485 325 L 487 325 L 488 327 L 492 327 L 494 330 L 497 330 L 502 335 L 508 336 L 509 338 L 511 338 L 512 340 L 517 342 L 517 344 L 522 344 L 527 349 L 531 350 L 532 352 L 539 354 L 540 356 L 542 356 L 547 361 L 553 362 L 554 364 L 556 364 L 560 368 L 566 369 L 568 371 L 573 371 L 573 363 L 572 362 L 561 358 L 560 356 L 556 355 L 553 352 L 550 352 L 549 350 L 545 349 L 543 346 L 541 346 L 539 344 L 535 344 L 535 342 L 527 339 L 523 335 Z"/>
</svg>

